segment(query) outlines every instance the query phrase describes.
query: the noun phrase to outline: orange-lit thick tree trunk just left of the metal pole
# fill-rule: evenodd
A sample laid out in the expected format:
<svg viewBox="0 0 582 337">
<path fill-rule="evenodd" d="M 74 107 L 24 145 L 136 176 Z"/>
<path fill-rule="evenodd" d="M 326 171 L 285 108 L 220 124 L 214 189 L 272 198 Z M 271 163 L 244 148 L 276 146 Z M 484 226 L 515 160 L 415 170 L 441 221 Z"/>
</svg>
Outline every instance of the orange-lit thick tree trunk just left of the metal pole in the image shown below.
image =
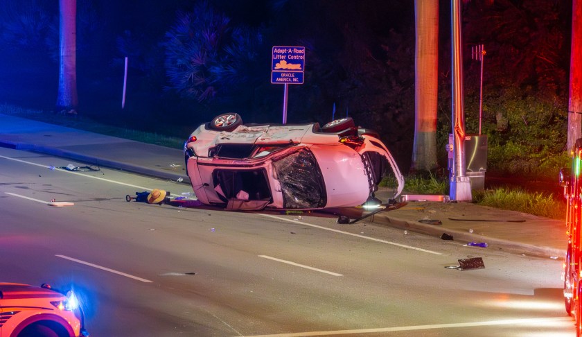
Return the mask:
<svg viewBox="0 0 582 337">
<path fill-rule="evenodd" d="M 412 170 L 436 168 L 439 71 L 439 1 L 415 0 L 414 146 Z"/>
</svg>

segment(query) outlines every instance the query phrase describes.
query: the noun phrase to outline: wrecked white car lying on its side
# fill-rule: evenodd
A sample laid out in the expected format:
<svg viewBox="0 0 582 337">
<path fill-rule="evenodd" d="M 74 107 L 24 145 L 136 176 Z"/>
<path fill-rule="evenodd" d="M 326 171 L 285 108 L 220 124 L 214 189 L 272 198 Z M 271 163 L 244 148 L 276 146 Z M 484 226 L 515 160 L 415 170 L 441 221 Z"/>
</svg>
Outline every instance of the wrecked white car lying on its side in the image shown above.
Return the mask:
<svg viewBox="0 0 582 337">
<path fill-rule="evenodd" d="M 247 124 L 227 113 L 184 144 L 186 171 L 200 202 L 226 209 L 324 209 L 374 197 L 390 166 L 404 180 L 376 132 L 351 118 L 319 123 Z"/>
</svg>

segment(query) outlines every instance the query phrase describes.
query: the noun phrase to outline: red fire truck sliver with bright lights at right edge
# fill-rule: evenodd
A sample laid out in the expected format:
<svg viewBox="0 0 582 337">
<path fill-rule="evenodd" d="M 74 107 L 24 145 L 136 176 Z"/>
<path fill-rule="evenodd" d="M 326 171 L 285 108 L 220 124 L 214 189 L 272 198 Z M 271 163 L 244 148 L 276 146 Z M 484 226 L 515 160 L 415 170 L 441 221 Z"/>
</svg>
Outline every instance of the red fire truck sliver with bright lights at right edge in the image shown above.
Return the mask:
<svg viewBox="0 0 582 337">
<path fill-rule="evenodd" d="M 560 184 L 566 198 L 568 245 L 564 260 L 564 302 L 576 320 L 576 336 L 582 336 L 582 138 L 572 150 L 572 168 L 560 170 Z"/>
</svg>

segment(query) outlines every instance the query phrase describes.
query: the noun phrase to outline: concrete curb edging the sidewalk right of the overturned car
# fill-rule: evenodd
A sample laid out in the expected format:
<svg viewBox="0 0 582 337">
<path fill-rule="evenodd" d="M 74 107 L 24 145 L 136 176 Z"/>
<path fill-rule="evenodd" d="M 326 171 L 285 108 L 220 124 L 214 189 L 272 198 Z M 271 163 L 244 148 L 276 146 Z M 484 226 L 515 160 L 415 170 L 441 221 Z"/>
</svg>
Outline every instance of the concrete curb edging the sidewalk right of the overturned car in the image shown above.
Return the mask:
<svg viewBox="0 0 582 337">
<path fill-rule="evenodd" d="M 563 259 L 566 254 L 565 249 L 561 250 L 558 248 L 509 241 L 506 239 L 497 239 L 491 236 L 470 232 L 451 230 L 447 227 L 426 225 L 424 223 L 419 223 L 418 221 L 409 221 L 407 219 L 398 218 L 389 214 L 376 214 L 374 223 L 390 225 L 391 227 L 399 228 L 401 230 L 410 230 L 412 232 L 427 234 L 439 238 L 443 233 L 446 233 L 454 237 L 453 241 L 462 244 L 466 244 L 471 241 L 485 242 L 488 244 L 488 248 L 484 249 L 503 250 L 505 252 L 525 254 L 535 257 L 557 257 L 558 259 Z"/>
</svg>

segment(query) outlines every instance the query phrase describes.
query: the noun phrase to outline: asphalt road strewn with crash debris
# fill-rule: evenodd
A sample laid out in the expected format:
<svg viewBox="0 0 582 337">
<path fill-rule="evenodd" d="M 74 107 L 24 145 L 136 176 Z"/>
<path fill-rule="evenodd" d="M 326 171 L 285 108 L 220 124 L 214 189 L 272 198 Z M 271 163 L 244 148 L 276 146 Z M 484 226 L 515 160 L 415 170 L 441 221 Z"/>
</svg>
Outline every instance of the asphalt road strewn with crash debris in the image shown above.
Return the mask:
<svg viewBox="0 0 582 337">
<path fill-rule="evenodd" d="M 191 189 L 48 168 L 67 164 L 85 166 L 0 148 L 0 281 L 73 286 L 91 336 L 574 336 L 561 261 L 324 214 L 126 202 Z M 445 268 L 467 257 L 486 268 Z"/>
</svg>

